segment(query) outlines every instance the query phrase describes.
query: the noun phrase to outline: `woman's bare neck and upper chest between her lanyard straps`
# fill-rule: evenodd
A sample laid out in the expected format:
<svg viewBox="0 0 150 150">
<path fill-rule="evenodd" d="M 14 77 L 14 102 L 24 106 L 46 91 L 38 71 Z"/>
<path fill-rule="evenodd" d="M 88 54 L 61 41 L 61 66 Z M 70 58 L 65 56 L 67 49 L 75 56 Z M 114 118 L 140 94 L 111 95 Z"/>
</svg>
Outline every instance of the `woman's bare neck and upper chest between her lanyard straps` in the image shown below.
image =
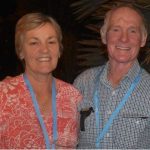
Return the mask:
<svg viewBox="0 0 150 150">
<path fill-rule="evenodd" d="M 49 116 L 52 110 L 52 75 L 42 76 L 29 73 L 26 75 L 32 85 L 41 113 Z"/>
</svg>

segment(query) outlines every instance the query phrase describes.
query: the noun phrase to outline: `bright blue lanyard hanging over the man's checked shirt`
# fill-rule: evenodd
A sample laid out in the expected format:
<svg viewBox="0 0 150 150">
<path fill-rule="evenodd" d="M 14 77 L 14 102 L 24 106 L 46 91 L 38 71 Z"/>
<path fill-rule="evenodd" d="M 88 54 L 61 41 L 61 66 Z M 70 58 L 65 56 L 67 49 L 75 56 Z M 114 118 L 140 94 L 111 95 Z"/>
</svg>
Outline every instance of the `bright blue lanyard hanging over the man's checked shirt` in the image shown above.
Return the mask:
<svg viewBox="0 0 150 150">
<path fill-rule="evenodd" d="M 106 135 L 106 133 L 108 132 L 110 126 L 113 123 L 114 118 L 118 115 L 119 111 L 123 108 L 123 106 L 125 105 L 126 101 L 128 100 L 129 96 L 131 95 L 131 93 L 133 92 L 133 90 L 135 89 L 135 87 L 137 86 L 137 84 L 139 83 L 140 79 L 141 79 L 141 74 L 142 70 L 139 71 L 139 74 L 135 77 L 133 83 L 131 84 L 130 88 L 128 89 L 128 91 L 126 92 L 126 94 L 124 95 L 124 97 L 122 98 L 121 102 L 118 104 L 117 108 L 113 111 L 113 113 L 111 114 L 111 116 L 109 117 L 108 121 L 106 122 L 104 128 L 102 129 L 102 131 L 99 133 L 97 139 L 96 139 L 96 147 L 100 148 L 100 140 L 103 139 L 103 137 Z M 97 82 L 98 84 L 98 82 Z M 96 88 L 97 85 L 96 84 Z M 95 88 L 95 89 L 96 89 Z M 99 97 L 99 99 L 98 99 Z M 96 126 L 97 128 L 99 128 L 100 126 L 100 117 L 99 117 L 99 103 L 100 103 L 100 96 L 98 96 L 97 94 L 97 89 L 95 90 L 94 93 L 94 104 L 95 104 L 95 117 L 96 117 Z"/>
</svg>

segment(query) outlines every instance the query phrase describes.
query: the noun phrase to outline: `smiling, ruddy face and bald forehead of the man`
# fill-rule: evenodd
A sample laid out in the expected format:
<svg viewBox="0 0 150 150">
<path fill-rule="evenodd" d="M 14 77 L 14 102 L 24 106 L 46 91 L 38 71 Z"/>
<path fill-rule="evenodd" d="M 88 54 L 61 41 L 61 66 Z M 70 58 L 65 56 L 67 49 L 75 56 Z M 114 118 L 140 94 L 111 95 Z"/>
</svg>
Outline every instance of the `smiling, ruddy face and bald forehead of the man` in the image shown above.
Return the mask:
<svg viewBox="0 0 150 150">
<path fill-rule="evenodd" d="M 115 63 L 133 63 L 146 42 L 142 19 L 134 10 L 122 7 L 113 12 L 106 33 L 109 59 Z"/>
</svg>

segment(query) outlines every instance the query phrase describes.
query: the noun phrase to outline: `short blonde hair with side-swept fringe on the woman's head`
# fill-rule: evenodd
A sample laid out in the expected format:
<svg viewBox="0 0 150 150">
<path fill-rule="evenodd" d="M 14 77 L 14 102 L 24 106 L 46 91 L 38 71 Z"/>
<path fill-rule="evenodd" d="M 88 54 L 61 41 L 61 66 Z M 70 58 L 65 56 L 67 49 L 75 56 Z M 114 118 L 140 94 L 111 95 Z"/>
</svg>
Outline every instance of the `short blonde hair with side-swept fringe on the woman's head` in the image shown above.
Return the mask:
<svg viewBox="0 0 150 150">
<path fill-rule="evenodd" d="M 46 23 L 50 23 L 54 27 L 56 34 L 57 34 L 58 42 L 59 42 L 60 52 L 62 53 L 62 50 L 63 50 L 62 31 L 61 31 L 61 27 L 59 26 L 59 24 L 52 17 L 47 16 L 45 14 L 28 13 L 24 15 L 23 17 L 21 17 L 16 24 L 15 48 L 16 48 L 16 54 L 19 58 L 20 58 L 20 53 L 22 51 L 24 34 L 27 31 L 37 28 Z"/>
</svg>

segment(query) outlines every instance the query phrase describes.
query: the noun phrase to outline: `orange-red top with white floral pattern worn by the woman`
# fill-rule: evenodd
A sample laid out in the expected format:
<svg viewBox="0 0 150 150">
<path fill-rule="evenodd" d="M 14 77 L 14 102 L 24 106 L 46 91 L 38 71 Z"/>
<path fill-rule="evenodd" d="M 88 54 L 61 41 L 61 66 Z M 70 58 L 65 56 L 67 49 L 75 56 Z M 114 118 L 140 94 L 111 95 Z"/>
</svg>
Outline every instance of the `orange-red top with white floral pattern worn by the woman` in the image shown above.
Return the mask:
<svg viewBox="0 0 150 150">
<path fill-rule="evenodd" d="M 71 85 L 56 79 L 56 148 L 75 148 L 79 127 L 77 104 L 82 96 Z M 52 141 L 52 116 L 44 117 Z M 0 82 L 0 148 L 45 149 L 43 133 L 23 75 Z"/>
</svg>

